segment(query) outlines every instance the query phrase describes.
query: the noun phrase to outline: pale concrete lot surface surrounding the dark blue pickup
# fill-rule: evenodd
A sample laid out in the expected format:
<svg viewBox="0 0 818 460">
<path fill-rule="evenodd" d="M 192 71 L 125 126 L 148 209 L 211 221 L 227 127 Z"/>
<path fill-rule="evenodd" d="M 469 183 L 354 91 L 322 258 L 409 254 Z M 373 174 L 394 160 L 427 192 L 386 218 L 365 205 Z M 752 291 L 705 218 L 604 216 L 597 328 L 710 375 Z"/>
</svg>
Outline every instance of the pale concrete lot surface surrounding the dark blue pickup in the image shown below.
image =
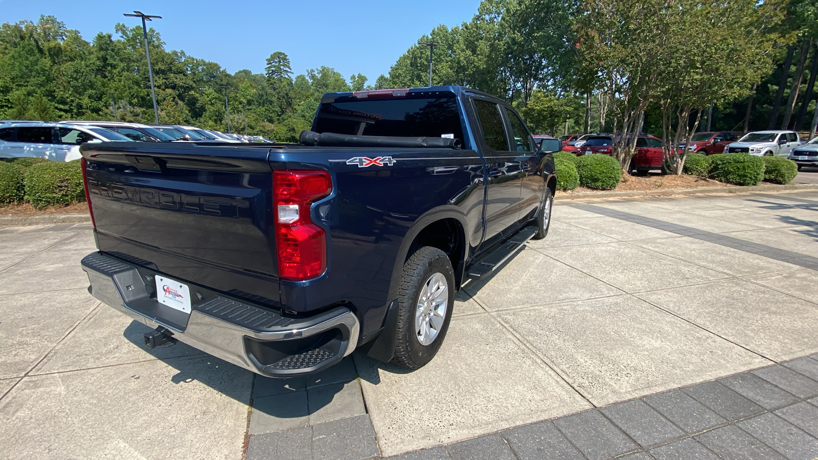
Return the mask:
<svg viewBox="0 0 818 460">
<path fill-rule="evenodd" d="M 558 199 L 553 219 L 546 239 L 458 294 L 425 368 L 353 354 L 292 381 L 183 344 L 147 350 L 146 327 L 85 290 L 88 224 L 0 227 L 0 457 L 371 458 L 449 444 L 424 452 L 469 458 L 505 440 L 495 447 L 524 458 L 533 429 L 505 430 L 558 419 L 572 449 L 606 458 L 655 443 L 627 432 L 615 409 L 587 409 L 633 400 L 662 412 L 664 392 L 734 374 L 722 382 L 775 384 L 774 371 L 741 376 L 782 362 L 818 386 L 807 378 L 814 361 L 798 361 L 818 352 L 818 192 Z M 724 391 L 713 385 L 685 395 L 707 405 L 696 392 Z M 809 392 L 775 388 L 795 398 L 784 399 L 792 420 L 757 415 L 778 405 L 716 411 L 726 425 L 676 442 L 711 452 L 719 436 L 766 443 L 753 432 L 809 405 Z M 571 414 L 590 418 L 559 418 Z M 627 432 L 623 450 L 597 455 L 572 438 L 572 423 L 599 414 Z M 745 415 L 756 418 L 733 424 Z M 479 437 L 497 432 L 506 434 Z M 798 435 L 811 452 L 815 439 Z"/>
</svg>

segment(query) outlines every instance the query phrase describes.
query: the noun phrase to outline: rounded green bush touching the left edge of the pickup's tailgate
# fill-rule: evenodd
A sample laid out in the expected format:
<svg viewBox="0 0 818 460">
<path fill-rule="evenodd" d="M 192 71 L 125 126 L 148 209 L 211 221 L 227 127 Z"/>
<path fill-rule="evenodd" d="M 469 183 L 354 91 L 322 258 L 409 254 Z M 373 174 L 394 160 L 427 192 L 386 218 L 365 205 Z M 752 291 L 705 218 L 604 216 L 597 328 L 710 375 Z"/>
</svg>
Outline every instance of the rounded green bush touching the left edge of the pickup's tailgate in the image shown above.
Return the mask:
<svg viewBox="0 0 818 460">
<path fill-rule="evenodd" d="M 48 161 L 25 172 L 25 199 L 34 207 L 70 205 L 85 200 L 79 162 Z"/>
</svg>

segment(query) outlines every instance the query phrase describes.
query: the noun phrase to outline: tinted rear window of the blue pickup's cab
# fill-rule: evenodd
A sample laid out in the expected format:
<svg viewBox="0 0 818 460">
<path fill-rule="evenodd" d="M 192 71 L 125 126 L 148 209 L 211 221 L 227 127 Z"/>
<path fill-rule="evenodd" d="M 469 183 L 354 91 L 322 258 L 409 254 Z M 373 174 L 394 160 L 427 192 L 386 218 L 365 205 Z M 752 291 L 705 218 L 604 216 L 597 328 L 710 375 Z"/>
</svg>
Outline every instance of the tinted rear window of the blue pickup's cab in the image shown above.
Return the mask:
<svg viewBox="0 0 818 460">
<path fill-rule="evenodd" d="M 420 94 L 371 100 L 337 97 L 321 104 L 315 130 L 357 136 L 463 139 L 460 112 L 453 95 L 431 98 Z"/>
</svg>

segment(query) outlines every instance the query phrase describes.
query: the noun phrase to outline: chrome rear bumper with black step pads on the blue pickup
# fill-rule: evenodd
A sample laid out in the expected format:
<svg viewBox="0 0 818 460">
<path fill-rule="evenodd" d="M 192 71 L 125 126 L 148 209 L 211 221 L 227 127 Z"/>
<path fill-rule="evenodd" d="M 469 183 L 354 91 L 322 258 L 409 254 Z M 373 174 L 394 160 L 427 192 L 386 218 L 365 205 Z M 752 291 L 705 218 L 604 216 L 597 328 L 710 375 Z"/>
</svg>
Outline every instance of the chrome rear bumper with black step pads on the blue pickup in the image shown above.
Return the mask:
<svg viewBox="0 0 818 460">
<path fill-rule="evenodd" d="M 290 318 L 188 282 L 191 295 L 199 299 L 188 315 L 156 300 L 153 280 L 159 272 L 101 252 L 85 256 L 82 267 L 91 282 L 88 291 L 98 300 L 148 327 L 164 328 L 187 345 L 263 376 L 318 372 L 339 362 L 357 345 L 360 323 L 345 307 Z"/>
</svg>

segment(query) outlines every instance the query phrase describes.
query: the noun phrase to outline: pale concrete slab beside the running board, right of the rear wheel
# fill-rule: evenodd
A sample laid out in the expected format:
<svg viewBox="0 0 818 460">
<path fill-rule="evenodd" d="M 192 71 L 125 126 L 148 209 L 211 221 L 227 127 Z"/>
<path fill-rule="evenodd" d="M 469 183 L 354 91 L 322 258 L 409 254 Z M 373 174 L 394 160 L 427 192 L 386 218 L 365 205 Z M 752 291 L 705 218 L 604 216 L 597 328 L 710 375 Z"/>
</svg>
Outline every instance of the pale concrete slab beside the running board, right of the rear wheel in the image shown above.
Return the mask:
<svg viewBox="0 0 818 460">
<path fill-rule="evenodd" d="M 464 291 L 489 311 L 622 294 L 537 250 L 520 252 L 492 277 L 470 282 Z"/>
</svg>

